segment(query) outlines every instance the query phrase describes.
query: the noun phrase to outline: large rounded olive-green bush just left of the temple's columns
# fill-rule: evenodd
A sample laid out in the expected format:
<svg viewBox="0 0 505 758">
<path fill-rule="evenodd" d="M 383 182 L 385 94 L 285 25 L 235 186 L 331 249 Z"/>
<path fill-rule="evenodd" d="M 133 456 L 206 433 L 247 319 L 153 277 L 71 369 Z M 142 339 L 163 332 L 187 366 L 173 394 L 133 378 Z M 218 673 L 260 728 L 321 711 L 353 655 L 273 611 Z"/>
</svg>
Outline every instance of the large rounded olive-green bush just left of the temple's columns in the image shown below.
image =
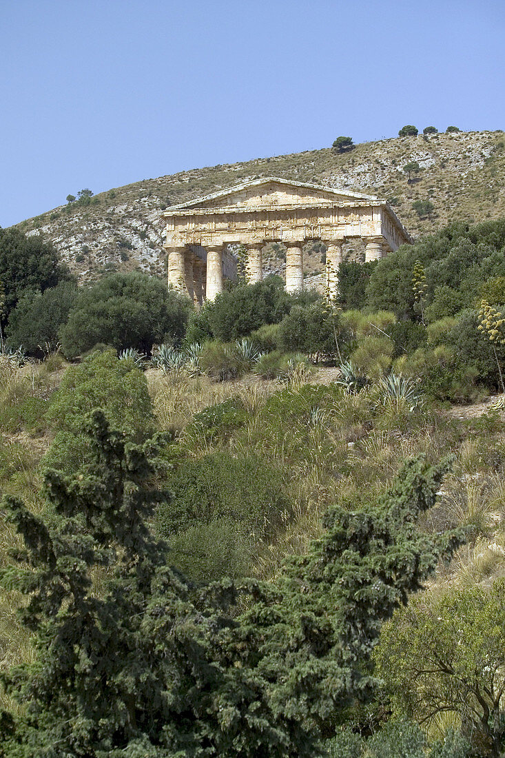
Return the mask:
<svg viewBox="0 0 505 758">
<path fill-rule="evenodd" d="M 61 346 L 67 357 L 96 343 L 149 354 L 154 343 L 182 339 L 192 307 L 155 277 L 112 274 L 80 292 L 61 329 Z"/>
</svg>

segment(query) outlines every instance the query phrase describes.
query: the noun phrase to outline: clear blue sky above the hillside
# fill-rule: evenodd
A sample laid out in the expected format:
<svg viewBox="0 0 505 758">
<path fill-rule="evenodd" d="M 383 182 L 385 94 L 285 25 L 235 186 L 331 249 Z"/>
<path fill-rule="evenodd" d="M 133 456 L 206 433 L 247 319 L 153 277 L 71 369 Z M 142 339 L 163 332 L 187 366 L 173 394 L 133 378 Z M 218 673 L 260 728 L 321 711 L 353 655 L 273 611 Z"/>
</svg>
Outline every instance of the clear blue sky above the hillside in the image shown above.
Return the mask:
<svg viewBox="0 0 505 758">
<path fill-rule="evenodd" d="M 505 129 L 503 0 L 0 0 L 0 225 L 187 168 Z"/>
</svg>

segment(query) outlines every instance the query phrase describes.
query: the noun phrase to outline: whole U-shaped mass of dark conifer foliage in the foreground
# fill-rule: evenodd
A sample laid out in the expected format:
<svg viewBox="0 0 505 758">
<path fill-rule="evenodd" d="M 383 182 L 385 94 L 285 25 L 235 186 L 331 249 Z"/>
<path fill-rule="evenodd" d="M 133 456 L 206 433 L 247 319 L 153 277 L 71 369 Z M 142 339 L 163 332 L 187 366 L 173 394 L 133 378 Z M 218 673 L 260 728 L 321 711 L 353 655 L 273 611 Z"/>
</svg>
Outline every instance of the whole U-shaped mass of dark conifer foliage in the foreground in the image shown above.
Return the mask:
<svg viewBox="0 0 505 758">
<path fill-rule="evenodd" d="M 460 543 L 416 527 L 447 464 L 409 462 L 378 503 L 331 509 L 275 582 L 196 588 L 147 526 L 166 497 L 149 485 L 162 440 L 133 444 L 100 411 L 87 434 L 85 470 L 45 475 L 47 522 L 4 501 L 25 549 L 0 578 L 27 595 L 36 657 L 3 676 L 26 709 L 0 715 L 0 756 L 318 755 L 374 688 L 382 622 Z"/>
</svg>

